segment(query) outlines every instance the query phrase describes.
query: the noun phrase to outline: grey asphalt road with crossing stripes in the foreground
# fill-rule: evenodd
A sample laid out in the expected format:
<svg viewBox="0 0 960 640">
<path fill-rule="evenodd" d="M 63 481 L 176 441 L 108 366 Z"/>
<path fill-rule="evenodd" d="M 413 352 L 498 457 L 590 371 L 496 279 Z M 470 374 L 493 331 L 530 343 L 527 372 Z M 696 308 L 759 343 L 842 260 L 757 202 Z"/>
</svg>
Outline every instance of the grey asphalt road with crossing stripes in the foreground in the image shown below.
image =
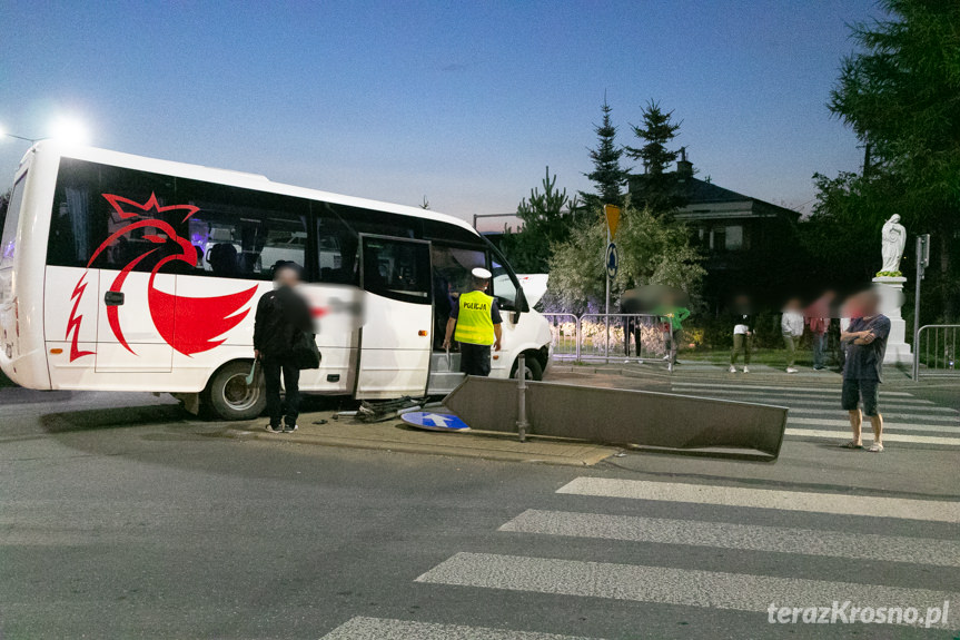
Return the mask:
<svg viewBox="0 0 960 640">
<path fill-rule="evenodd" d="M 218 431 L 164 397 L 0 388 L 0 637 L 960 634 L 957 447 L 581 470 Z M 954 609 L 768 621 L 838 598 Z"/>
</svg>

